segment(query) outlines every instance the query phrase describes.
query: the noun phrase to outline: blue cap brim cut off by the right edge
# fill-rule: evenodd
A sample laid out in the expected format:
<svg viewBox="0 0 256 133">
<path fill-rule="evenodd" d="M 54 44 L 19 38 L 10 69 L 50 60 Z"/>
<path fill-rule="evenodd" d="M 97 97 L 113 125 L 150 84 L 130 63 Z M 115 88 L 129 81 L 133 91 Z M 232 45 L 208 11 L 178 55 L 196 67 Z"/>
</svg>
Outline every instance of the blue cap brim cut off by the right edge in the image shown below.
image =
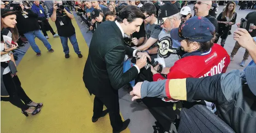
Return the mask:
<svg viewBox="0 0 256 133">
<path fill-rule="evenodd" d="M 244 72 L 250 91 L 256 95 L 256 66 L 247 66 Z"/>
</svg>

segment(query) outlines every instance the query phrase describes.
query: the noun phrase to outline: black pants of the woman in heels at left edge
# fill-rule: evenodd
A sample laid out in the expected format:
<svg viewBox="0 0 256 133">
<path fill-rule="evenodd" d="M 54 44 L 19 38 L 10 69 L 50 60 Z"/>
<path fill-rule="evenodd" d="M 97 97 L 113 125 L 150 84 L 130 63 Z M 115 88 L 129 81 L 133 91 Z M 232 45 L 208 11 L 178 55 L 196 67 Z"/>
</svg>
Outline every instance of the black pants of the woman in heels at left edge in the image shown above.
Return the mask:
<svg viewBox="0 0 256 133">
<path fill-rule="evenodd" d="M 11 74 L 7 73 L 3 75 L 3 82 L 10 97 L 1 97 L 1 100 L 9 101 L 18 108 L 21 108 L 23 111 L 29 109 L 27 104 L 31 103 L 32 100 L 27 96 L 21 87 L 19 78 L 17 76 L 12 78 Z"/>
</svg>

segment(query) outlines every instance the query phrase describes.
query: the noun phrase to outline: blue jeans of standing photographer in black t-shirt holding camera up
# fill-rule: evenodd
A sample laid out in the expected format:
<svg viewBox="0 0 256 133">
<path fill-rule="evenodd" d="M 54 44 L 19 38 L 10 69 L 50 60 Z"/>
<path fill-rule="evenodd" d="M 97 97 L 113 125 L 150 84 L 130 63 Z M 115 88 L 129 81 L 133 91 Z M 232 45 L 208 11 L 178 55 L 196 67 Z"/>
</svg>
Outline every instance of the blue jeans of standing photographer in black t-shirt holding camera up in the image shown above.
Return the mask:
<svg viewBox="0 0 256 133">
<path fill-rule="evenodd" d="M 70 37 L 61 37 L 61 36 L 59 36 L 59 38 L 60 38 L 60 41 L 61 41 L 61 44 L 62 44 L 62 47 L 63 47 L 63 51 L 64 51 L 65 54 L 70 53 L 70 49 L 69 49 L 69 46 L 68 46 L 68 38 L 70 39 L 70 42 L 73 45 L 73 48 L 74 48 L 76 54 L 77 55 L 81 54 L 81 52 L 79 51 L 77 40 L 76 40 L 76 34 L 74 34 Z"/>
</svg>

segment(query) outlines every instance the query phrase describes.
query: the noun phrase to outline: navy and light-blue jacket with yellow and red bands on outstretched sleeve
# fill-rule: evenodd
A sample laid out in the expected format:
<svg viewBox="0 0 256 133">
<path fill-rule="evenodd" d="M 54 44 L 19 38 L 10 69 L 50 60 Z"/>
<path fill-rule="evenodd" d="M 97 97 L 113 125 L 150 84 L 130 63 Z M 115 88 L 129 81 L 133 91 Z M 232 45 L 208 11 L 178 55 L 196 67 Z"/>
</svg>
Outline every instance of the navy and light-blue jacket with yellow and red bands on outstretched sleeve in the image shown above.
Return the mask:
<svg viewBox="0 0 256 133">
<path fill-rule="evenodd" d="M 145 81 L 141 85 L 141 98 L 168 96 L 188 102 L 208 100 L 215 103 L 218 116 L 236 133 L 256 133 L 256 96 L 244 77 L 244 71 L 233 70 L 204 78 Z"/>
</svg>

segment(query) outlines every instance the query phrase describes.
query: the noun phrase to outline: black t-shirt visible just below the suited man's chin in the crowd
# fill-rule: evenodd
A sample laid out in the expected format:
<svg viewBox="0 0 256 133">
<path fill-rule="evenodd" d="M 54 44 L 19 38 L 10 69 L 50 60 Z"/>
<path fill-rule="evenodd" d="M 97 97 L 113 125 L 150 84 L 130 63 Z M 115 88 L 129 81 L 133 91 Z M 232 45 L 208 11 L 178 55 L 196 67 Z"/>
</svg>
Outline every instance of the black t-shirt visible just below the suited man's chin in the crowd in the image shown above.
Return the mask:
<svg viewBox="0 0 256 133">
<path fill-rule="evenodd" d="M 144 22 L 142 22 L 140 26 L 140 31 L 133 33 L 133 38 L 140 39 L 141 37 L 145 37 L 146 32 L 145 32 L 145 27 L 144 27 Z M 132 43 L 131 37 L 124 34 L 123 38 L 124 44 L 127 45 L 128 47 L 134 47 L 135 45 Z"/>
</svg>

